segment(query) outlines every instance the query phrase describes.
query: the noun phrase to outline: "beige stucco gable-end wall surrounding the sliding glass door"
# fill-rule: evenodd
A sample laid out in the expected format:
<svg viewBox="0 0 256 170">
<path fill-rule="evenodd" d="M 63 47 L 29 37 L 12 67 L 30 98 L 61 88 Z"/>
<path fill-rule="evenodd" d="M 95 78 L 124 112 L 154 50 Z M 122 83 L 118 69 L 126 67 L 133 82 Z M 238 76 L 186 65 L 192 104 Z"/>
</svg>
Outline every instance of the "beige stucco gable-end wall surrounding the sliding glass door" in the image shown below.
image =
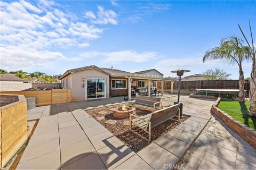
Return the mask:
<svg viewBox="0 0 256 170">
<path fill-rule="evenodd" d="M 84 70 L 75 72 L 69 75 L 71 76 L 71 89 L 72 89 L 72 100 L 79 101 L 85 100 L 85 89 L 87 86 L 86 78 L 103 78 L 106 80 L 106 97 L 109 97 L 109 75 L 98 71 L 96 69 Z M 84 78 L 84 87 L 82 86 L 82 79 Z M 65 78 L 64 78 L 65 79 Z"/>
</svg>

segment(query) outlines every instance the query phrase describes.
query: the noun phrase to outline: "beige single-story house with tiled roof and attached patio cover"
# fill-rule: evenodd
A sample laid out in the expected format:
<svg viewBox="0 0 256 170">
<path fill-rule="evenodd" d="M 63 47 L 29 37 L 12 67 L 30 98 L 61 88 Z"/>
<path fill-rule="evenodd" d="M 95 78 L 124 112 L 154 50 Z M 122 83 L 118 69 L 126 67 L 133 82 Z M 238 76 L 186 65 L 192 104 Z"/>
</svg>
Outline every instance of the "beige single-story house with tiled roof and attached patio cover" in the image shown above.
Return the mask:
<svg viewBox="0 0 256 170">
<path fill-rule="evenodd" d="M 129 96 L 131 99 L 134 89 L 151 91 L 157 88 L 159 81 L 162 84 L 164 81 L 173 81 L 163 78 L 163 74 L 155 69 L 130 73 L 95 65 L 67 70 L 60 80 L 63 88 L 72 89 L 73 101 L 114 96 Z M 150 95 L 150 92 L 147 94 Z"/>
</svg>

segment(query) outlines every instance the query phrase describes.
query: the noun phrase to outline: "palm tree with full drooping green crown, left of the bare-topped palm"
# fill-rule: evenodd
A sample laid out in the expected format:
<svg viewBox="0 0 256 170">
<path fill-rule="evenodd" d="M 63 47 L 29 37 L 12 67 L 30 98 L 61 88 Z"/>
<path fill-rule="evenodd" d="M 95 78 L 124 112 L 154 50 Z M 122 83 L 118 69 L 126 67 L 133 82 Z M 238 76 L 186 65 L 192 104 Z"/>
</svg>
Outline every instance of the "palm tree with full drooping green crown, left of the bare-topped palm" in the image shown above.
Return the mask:
<svg viewBox="0 0 256 170">
<path fill-rule="evenodd" d="M 237 36 L 222 39 L 219 47 L 205 52 L 203 62 L 206 60 L 222 60 L 224 63 L 237 64 L 239 67 L 239 101 L 245 101 L 243 60 L 249 59 L 249 47 L 243 46 L 243 40 Z"/>
</svg>

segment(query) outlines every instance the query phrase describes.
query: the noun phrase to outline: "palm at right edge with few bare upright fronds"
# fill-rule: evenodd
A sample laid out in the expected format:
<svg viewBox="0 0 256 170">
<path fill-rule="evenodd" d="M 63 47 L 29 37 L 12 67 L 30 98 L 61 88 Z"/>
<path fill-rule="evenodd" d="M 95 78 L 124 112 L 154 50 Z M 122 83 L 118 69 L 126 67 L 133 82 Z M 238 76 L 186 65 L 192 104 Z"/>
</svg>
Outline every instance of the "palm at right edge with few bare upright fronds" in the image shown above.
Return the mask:
<svg viewBox="0 0 256 170">
<path fill-rule="evenodd" d="M 250 58 L 252 60 L 252 71 L 251 71 L 251 81 L 250 81 L 250 94 L 249 94 L 249 99 L 250 99 L 250 112 L 249 114 L 252 116 L 256 116 L 256 49 L 254 48 L 253 44 L 253 36 L 252 36 L 252 29 L 251 29 L 251 22 L 249 21 L 249 27 L 250 27 L 250 34 L 251 34 L 251 40 L 252 40 L 252 45 L 249 44 L 249 41 L 244 35 L 244 32 L 240 25 L 238 24 L 238 27 L 240 31 L 242 32 L 242 35 L 249 46 L 250 49 Z"/>
</svg>

